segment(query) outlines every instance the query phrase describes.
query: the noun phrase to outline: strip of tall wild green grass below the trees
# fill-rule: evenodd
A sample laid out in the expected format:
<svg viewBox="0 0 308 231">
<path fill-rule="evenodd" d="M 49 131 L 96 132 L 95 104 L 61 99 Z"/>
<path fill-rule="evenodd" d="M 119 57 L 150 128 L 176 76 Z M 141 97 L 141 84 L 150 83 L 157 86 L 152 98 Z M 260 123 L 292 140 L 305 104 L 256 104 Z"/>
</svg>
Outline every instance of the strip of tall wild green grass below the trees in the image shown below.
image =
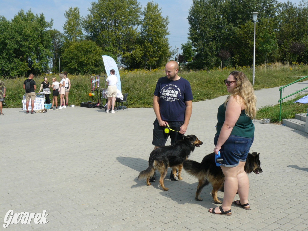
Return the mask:
<svg viewBox="0 0 308 231">
<path fill-rule="evenodd" d="M 224 79 L 227 79 L 229 73 L 233 70 L 234 69 L 227 68 L 212 71 L 180 70 L 179 76 L 190 82 L 194 97 L 193 102 L 197 102 L 217 98 L 221 95 L 228 95 Z M 237 67 L 236 70 L 243 71 L 252 82 L 252 68 Z M 258 66 L 255 71 L 254 89 L 260 90 L 262 88 L 283 86 L 300 79 L 302 76 L 305 76 L 306 73 L 308 73 L 307 65 L 290 66 L 281 63 L 274 63 L 267 68 L 264 66 Z M 152 107 L 153 92 L 155 90 L 156 82 L 163 76 L 165 76 L 164 69 L 155 69 L 152 71 L 120 71 L 122 93 L 128 93 L 129 107 Z M 43 77 L 44 76 L 34 77 L 37 86 L 36 92 L 39 92 L 39 87 L 43 81 Z M 59 81 L 59 75 L 47 75 L 47 77 L 50 83 L 52 83 L 52 77 L 57 77 Z M 67 77 L 71 80 L 69 104 L 75 104 L 78 106 L 81 102 L 92 101 L 92 97 L 89 96 L 89 93 L 91 92 L 91 75 L 68 74 Z M 107 76 L 105 78 L 107 78 Z M 7 87 L 7 105 L 12 105 L 11 107 L 22 107 L 22 95 L 25 93 L 22 85 L 25 79 L 26 78 L 16 78 L 4 80 Z M 100 77 L 100 88 L 105 88 L 103 76 Z M 279 92 L 277 92 L 277 95 L 278 94 Z M 52 96 L 50 96 L 50 98 L 52 98 Z M 96 102 L 97 95 L 93 96 L 93 98 Z"/>
</svg>

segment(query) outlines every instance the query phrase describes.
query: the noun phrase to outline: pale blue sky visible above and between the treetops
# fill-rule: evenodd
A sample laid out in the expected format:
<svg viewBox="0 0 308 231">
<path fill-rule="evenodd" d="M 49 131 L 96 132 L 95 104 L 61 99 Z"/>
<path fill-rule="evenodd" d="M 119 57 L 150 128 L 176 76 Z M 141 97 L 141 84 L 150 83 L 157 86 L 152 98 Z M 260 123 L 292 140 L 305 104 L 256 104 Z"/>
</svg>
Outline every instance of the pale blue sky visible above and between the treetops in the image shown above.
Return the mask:
<svg viewBox="0 0 308 231">
<path fill-rule="evenodd" d="M 94 0 L 1 0 L 0 15 L 7 20 L 14 17 L 21 9 L 25 12 L 31 9 L 34 14 L 43 13 L 46 20 L 49 22 L 53 19 L 53 28 L 63 32 L 63 24 L 66 21 L 64 13 L 69 7 L 79 7 L 80 15 L 85 17 L 91 7 L 91 2 Z M 149 0 L 139 0 L 142 9 L 147 5 Z M 163 17 L 168 16 L 170 33 L 169 43 L 172 49 L 179 47 L 181 53 L 181 44 L 187 42 L 188 36 L 188 11 L 192 5 L 192 0 L 154 0 L 161 8 Z M 282 0 L 282 2 L 286 2 Z M 292 0 L 293 3 L 298 3 L 299 0 Z M 252 18 L 252 17 L 251 17 Z"/>
</svg>

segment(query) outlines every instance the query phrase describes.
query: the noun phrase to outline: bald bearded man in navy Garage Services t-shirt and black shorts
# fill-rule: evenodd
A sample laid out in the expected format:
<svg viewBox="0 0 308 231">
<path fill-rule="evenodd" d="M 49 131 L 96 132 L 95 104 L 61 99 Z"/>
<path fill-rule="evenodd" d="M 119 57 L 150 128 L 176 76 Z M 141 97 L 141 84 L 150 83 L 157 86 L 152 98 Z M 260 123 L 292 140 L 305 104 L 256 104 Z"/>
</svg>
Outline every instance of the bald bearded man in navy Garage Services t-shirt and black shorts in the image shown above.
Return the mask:
<svg viewBox="0 0 308 231">
<path fill-rule="evenodd" d="M 152 144 L 155 146 L 154 149 L 165 146 L 168 136 L 170 136 L 171 144 L 183 138 L 193 109 L 193 93 L 190 83 L 178 76 L 179 65 L 175 61 L 169 61 L 165 71 L 166 76 L 157 81 L 153 98 L 153 109 L 156 115 L 153 123 Z M 164 128 L 167 124 L 178 132 L 166 134 Z M 154 173 L 150 181 L 155 181 L 155 177 Z M 170 180 L 175 180 L 172 172 Z"/>
</svg>

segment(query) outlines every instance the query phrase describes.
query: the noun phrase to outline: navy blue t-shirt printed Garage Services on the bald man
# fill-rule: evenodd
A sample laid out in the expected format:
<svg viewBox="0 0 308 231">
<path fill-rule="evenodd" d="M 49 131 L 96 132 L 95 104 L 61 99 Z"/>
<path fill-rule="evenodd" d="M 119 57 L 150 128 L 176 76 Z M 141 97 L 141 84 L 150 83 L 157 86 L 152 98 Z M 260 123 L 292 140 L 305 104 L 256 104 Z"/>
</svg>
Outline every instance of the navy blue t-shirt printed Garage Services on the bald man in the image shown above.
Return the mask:
<svg viewBox="0 0 308 231">
<path fill-rule="evenodd" d="M 167 76 L 158 79 L 154 95 L 160 97 L 160 116 L 165 121 L 184 121 L 185 101 L 193 100 L 190 83 L 183 78 L 170 80 Z"/>
</svg>

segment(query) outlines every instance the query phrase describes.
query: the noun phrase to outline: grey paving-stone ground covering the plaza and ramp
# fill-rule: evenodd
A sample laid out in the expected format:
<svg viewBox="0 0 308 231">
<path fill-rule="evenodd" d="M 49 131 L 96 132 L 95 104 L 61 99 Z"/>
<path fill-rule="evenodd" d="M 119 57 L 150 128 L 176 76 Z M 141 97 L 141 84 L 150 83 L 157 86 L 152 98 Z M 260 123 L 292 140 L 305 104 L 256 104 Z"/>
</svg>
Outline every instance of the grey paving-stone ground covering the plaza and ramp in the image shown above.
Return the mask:
<svg viewBox="0 0 308 231">
<path fill-rule="evenodd" d="M 306 84 L 292 85 L 283 96 Z M 277 104 L 278 88 L 256 91 L 257 106 Z M 190 159 L 201 162 L 213 152 L 217 108 L 225 98 L 193 103 L 186 134 L 197 135 L 204 144 Z M 232 216 L 219 216 L 208 212 L 216 206 L 211 186 L 203 189 L 203 201 L 195 201 L 197 179 L 185 171 L 183 180 L 170 181 L 168 170 L 164 183 L 169 191 L 158 180 L 151 186 L 137 180 L 153 149 L 152 108 L 115 114 L 85 107 L 44 114 L 4 108 L 3 113 L 0 230 L 307 230 L 307 133 L 256 120 L 250 151 L 260 152 L 263 173 L 249 175 L 252 209 L 232 206 Z M 9 210 L 44 209 L 46 224 L 32 219 L 3 228 Z"/>
</svg>

